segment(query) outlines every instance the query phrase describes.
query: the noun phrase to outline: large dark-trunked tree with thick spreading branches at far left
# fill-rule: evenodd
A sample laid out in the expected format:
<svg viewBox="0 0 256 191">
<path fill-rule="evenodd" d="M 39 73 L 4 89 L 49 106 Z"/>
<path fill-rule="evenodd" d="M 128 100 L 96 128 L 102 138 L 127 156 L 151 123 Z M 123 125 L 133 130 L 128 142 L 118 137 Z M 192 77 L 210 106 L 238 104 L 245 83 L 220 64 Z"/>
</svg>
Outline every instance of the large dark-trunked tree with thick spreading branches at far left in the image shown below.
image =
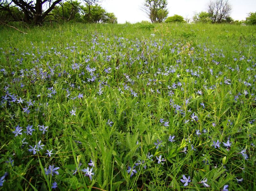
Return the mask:
<svg viewBox="0 0 256 191">
<path fill-rule="evenodd" d="M 83 0 L 87 4 L 95 4 L 100 0 Z M 12 8 L 18 7 L 22 15 L 13 17 L 13 21 L 24 21 L 26 23 L 41 25 L 45 17 L 50 15 L 54 7 L 62 0 L 0 0 L 0 12 L 6 11 L 12 17 Z"/>
</svg>

